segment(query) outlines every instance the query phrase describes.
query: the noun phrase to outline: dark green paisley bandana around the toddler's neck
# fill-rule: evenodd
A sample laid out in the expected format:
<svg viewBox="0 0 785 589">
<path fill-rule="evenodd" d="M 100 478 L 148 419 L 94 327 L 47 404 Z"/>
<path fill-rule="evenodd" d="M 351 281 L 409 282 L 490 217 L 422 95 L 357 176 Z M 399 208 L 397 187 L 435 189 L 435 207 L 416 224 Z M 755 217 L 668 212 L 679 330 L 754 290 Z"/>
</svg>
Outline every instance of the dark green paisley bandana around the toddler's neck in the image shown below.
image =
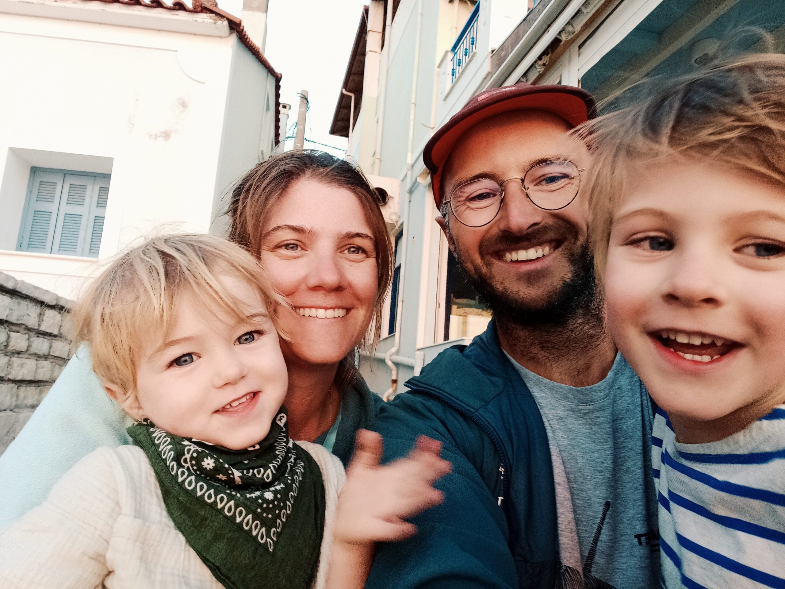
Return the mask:
<svg viewBox="0 0 785 589">
<path fill-rule="evenodd" d="M 175 436 L 148 420 L 128 428 L 174 525 L 228 589 L 308 589 L 316 576 L 324 483 L 286 424 L 282 407 L 267 437 L 238 451 Z"/>
</svg>

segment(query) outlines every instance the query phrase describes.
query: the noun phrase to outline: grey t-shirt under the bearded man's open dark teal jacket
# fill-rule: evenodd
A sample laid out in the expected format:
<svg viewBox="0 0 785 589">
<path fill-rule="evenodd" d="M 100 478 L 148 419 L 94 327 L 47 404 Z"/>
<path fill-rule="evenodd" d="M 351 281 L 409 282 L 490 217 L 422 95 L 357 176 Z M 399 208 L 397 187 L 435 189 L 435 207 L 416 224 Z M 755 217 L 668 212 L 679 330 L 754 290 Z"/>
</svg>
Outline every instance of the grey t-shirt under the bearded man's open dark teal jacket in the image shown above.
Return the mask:
<svg viewBox="0 0 785 589">
<path fill-rule="evenodd" d="M 652 405 L 641 380 L 621 354 L 608 376 L 584 387 L 543 379 L 507 357 L 546 425 L 560 557 L 574 569 L 567 576 L 582 569 L 586 587 L 659 587 Z"/>
</svg>

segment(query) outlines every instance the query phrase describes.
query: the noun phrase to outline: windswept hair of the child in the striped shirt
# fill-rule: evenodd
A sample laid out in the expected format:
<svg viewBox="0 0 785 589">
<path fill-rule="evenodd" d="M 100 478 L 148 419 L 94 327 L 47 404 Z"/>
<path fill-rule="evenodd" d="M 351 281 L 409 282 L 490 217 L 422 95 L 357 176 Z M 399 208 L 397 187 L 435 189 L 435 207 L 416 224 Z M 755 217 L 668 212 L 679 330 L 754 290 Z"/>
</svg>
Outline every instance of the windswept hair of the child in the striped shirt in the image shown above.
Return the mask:
<svg viewBox="0 0 785 589">
<path fill-rule="evenodd" d="M 643 100 L 579 130 L 595 155 L 587 180 L 598 277 L 614 212 L 636 164 L 685 157 L 785 185 L 785 55 L 717 60 L 672 82 L 644 82 L 636 91 Z"/>
</svg>

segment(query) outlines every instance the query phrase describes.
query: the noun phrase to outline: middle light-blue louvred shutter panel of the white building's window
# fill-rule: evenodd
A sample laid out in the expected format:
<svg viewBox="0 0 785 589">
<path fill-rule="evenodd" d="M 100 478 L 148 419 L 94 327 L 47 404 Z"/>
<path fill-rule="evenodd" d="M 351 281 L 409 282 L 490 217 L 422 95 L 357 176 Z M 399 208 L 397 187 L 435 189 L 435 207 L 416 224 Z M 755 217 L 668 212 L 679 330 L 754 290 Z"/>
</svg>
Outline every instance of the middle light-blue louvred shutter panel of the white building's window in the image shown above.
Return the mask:
<svg viewBox="0 0 785 589">
<path fill-rule="evenodd" d="M 93 193 L 94 181 L 93 176 L 65 174 L 63 196 L 60 196 L 60 210 L 57 212 L 53 254 L 82 255 L 90 210 L 87 195 Z"/>
</svg>

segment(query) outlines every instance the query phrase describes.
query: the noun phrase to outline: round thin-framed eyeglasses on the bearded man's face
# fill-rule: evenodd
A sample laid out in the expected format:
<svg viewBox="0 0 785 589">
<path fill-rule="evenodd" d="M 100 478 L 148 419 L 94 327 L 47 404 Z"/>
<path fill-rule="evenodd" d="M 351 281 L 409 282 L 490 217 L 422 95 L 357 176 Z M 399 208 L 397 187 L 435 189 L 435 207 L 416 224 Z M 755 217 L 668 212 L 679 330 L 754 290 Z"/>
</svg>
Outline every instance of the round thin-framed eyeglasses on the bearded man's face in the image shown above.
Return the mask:
<svg viewBox="0 0 785 589">
<path fill-rule="evenodd" d="M 504 202 L 504 185 L 510 180 L 520 180 L 520 187 L 535 207 L 543 210 L 560 210 L 567 207 L 575 196 L 583 168 L 568 159 L 538 163 L 531 166 L 523 177 L 513 176 L 501 182 L 480 178 L 455 188 L 450 199 L 452 214 L 468 227 L 482 227 L 496 218 Z"/>
</svg>

